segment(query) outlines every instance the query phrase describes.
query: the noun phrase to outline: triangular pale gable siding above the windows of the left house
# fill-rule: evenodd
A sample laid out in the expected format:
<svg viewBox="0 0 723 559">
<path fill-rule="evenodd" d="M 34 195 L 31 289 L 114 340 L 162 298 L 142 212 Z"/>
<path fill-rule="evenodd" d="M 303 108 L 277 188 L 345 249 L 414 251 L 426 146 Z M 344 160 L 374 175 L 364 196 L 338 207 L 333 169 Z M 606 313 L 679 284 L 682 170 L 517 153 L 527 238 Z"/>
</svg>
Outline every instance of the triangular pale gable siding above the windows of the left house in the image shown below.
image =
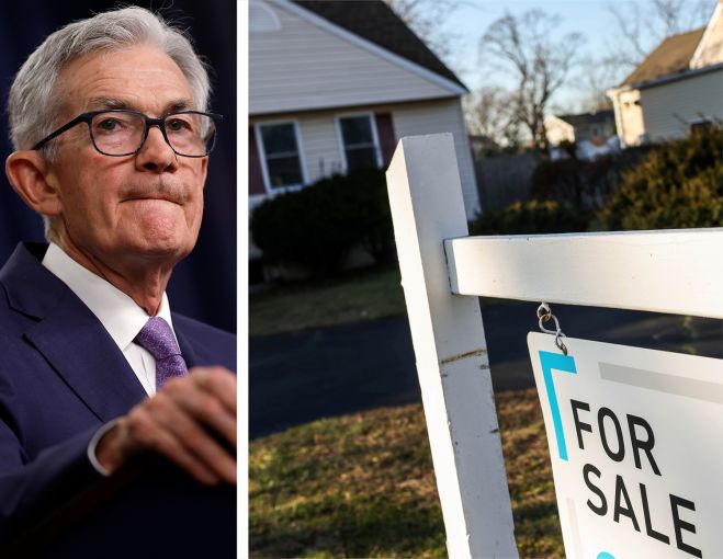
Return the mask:
<svg viewBox="0 0 723 559">
<path fill-rule="evenodd" d="M 251 115 L 454 95 L 282 5 L 266 5 L 281 28 L 249 34 Z"/>
</svg>

